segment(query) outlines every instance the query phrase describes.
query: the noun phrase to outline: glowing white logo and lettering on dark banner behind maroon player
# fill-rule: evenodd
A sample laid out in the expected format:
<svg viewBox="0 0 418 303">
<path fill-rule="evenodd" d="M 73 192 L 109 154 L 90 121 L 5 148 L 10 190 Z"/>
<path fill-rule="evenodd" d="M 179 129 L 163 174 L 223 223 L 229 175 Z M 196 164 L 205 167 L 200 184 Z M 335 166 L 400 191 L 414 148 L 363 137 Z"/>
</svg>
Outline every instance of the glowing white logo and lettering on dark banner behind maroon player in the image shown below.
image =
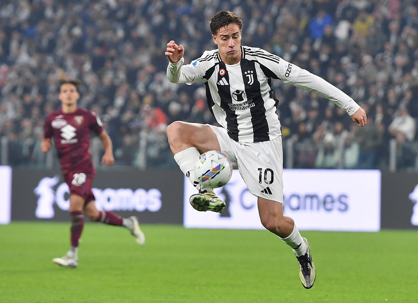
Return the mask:
<svg viewBox="0 0 418 303">
<path fill-rule="evenodd" d="M 37 218 L 50 219 L 54 217 L 56 204 L 61 210 L 70 207 L 70 190 L 66 183 L 61 183 L 56 189 L 59 177 L 45 177 L 39 181 L 34 193 L 38 196 L 35 215 Z M 161 209 L 161 192 L 158 189 L 97 189 L 93 188 L 96 197 L 96 207 L 111 211 L 152 211 Z"/>
</svg>

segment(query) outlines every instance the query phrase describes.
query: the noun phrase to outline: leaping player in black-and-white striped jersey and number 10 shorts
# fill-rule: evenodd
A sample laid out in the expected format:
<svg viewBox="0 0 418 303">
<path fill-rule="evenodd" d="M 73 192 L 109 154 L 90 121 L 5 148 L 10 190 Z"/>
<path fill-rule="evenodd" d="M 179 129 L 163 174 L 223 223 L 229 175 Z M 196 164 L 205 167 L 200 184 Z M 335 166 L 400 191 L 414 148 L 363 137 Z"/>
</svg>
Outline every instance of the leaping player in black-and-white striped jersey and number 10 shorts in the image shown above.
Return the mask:
<svg viewBox="0 0 418 303">
<path fill-rule="evenodd" d="M 358 125 L 366 124 L 365 111 L 342 91 L 310 72 L 263 49 L 241 45 L 243 23 L 231 11 L 218 11 L 210 21 L 217 49 L 184 64 L 183 45 L 171 40 L 165 55 L 167 77 L 173 83 L 206 86 L 209 109 L 221 127 L 175 121 L 167 127 L 174 159 L 198 194 L 190 203 L 199 211 L 221 212 L 225 202 L 202 187 L 194 173 L 199 155 L 218 150 L 239 170 L 257 198 L 263 226 L 294 251 L 303 286 L 313 287 L 316 270 L 308 240 L 294 220 L 283 215 L 283 146 L 272 79 L 279 79 L 325 97 L 343 108 Z"/>
</svg>

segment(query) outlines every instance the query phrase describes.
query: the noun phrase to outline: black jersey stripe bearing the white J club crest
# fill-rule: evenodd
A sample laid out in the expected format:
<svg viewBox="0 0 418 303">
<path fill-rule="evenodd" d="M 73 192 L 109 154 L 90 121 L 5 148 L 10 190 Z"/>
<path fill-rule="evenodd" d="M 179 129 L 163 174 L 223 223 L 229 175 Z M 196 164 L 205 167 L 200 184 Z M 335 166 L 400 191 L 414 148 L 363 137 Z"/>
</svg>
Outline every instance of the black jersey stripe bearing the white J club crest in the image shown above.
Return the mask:
<svg viewBox="0 0 418 303">
<path fill-rule="evenodd" d="M 254 142 L 269 140 L 269 126 L 266 120 L 264 100 L 261 96 L 260 83 L 257 79 L 256 62 L 241 59 L 241 72 L 245 86 L 247 101 L 255 105 L 250 107 L 251 123 L 254 131 Z"/>
</svg>

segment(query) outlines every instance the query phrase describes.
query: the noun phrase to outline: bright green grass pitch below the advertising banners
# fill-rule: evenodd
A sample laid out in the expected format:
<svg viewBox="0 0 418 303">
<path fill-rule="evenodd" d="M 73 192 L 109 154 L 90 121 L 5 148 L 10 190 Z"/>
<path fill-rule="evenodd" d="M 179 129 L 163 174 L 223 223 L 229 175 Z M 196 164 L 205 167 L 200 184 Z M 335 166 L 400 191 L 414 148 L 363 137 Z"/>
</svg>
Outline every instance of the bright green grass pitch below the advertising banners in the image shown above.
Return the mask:
<svg viewBox="0 0 418 303">
<path fill-rule="evenodd" d="M 66 253 L 70 223 L 0 225 L 2 303 L 416 303 L 417 231 L 302 231 L 317 278 L 299 281 L 291 249 L 264 230 L 86 223 L 79 267 Z"/>
</svg>

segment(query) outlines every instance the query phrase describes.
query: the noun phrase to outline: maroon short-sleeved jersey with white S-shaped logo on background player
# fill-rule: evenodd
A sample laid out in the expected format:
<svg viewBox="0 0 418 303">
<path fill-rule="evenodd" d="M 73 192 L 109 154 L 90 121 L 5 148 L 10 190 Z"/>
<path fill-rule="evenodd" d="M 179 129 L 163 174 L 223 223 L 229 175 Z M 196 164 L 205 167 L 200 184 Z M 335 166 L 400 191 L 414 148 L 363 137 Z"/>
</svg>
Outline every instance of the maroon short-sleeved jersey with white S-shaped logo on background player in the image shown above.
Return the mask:
<svg viewBox="0 0 418 303">
<path fill-rule="evenodd" d="M 92 166 L 89 151 L 91 131 L 100 135 L 103 124 L 95 112 L 84 108 L 77 107 L 73 113 L 63 113 L 58 109 L 46 117 L 44 138 L 54 139 L 64 175 Z"/>
</svg>

